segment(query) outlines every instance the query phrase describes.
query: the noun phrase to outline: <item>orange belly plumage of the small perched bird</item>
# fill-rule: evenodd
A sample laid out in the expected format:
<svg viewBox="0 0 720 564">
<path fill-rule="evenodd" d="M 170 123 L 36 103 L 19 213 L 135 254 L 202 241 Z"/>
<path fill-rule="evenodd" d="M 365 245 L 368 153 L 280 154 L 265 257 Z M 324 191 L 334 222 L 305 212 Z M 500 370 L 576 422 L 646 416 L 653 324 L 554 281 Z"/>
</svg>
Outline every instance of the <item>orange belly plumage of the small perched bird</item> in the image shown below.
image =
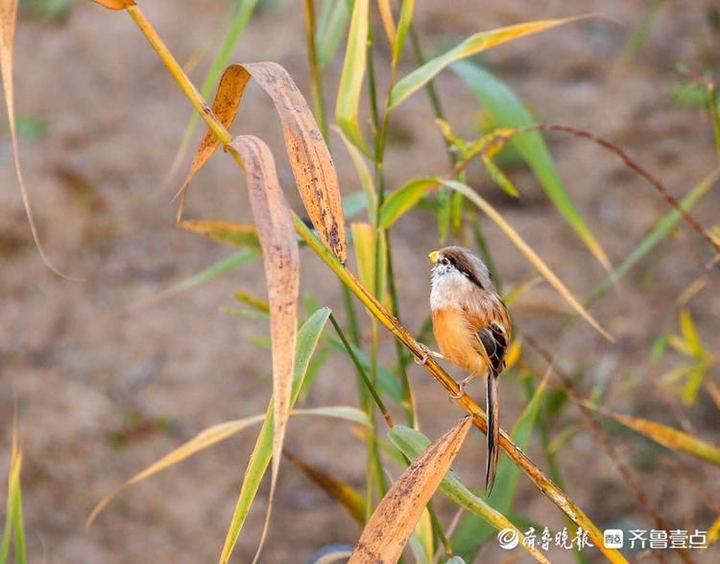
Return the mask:
<svg viewBox="0 0 720 564">
<path fill-rule="evenodd" d="M 433 334 L 443 356 L 471 374 L 484 376 L 487 363 L 476 350 L 477 337 L 464 312 L 457 308 L 435 309 L 432 320 Z"/>
</svg>

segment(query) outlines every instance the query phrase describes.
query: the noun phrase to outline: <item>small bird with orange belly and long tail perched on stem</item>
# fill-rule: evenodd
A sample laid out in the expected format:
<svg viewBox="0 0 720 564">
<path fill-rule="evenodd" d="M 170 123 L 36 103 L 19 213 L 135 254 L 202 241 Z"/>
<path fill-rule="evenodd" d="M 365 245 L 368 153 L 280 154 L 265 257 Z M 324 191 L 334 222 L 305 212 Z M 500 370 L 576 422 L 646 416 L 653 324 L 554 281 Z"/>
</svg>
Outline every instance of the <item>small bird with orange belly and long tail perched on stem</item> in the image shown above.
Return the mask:
<svg viewBox="0 0 720 564">
<path fill-rule="evenodd" d="M 467 370 L 470 375 L 460 383 L 462 397 L 465 386 L 477 376 L 487 378 L 488 450 L 485 490 L 490 493 L 495 483 L 500 437 L 498 376 L 505 368 L 505 353 L 510 343 L 510 315 L 495 290 L 485 263 L 464 247 L 445 247 L 431 252 L 433 334 L 440 354 Z"/>
</svg>

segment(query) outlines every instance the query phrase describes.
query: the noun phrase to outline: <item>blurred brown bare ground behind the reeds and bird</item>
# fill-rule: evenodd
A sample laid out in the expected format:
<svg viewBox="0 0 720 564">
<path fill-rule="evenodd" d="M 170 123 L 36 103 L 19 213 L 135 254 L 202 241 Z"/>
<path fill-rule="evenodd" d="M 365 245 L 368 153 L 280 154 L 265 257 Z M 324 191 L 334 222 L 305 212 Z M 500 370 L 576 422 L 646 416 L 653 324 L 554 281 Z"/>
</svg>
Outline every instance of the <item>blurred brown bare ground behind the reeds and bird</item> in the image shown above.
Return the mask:
<svg viewBox="0 0 720 564">
<path fill-rule="evenodd" d="M 682 195 L 716 166 L 707 115 L 679 103 L 673 94 L 675 63 L 699 69 L 718 61 L 720 37 L 705 16 L 712 5 L 668 2 L 626 66 L 619 57 L 649 3 L 418 2 L 416 23 L 426 48 L 441 48 L 475 31 L 523 20 L 606 15 L 500 47 L 485 61 L 539 120 L 588 128 L 612 139 Z M 205 53 L 192 73 L 198 82 L 221 41 L 229 8 L 223 0 L 143 3 L 181 61 Z M 407 55 L 401 74 L 415 66 L 409 49 Z M 309 98 L 297 3 L 265 3 L 233 59 L 281 63 Z M 383 46 L 381 74 L 387 61 Z M 327 80 L 330 108 L 340 64 L 338 58 Z M 233 290 L 263 294 L 259 263 L 129 311 L 231 252 L 173 226 L 170 199 L 177 182 L 166 188 L 162 182 L 189 118 L 189 104 L 131 20 L 88 2 L 73 2 L 57 18 L 26 11 L 17 30 L 15 69 L 16 111 L 25 127 L 21 155 L 42 240 L 56 264 L 85 278 L 67 282 L 39 260 L 5 133 L 0 139 L 0 470 L 6 475 L 16 412 L 25 451 L 29 552 L 36 562 L 213 561 L 254 443 L 252 430 L 122 495 L 89 532 L 83 526 L 102 496 L 183 440 L 211 424 L 265 410 L 271 389 L 269 352 L 252 337 L 265 335 L 267 327 L 221 311 L 233 305 Z M 439 88 L 457 132 L 476 136 L 479 110 L 472 95 L 450 73 L 441 75 Z M 393 125 L 390 187 L 447 169 L 424 93 L 394 115 Z M 243 101 L 235 130 L 269 142 L 277 151 L 281 182 L 292 193 L 279 124 L 255 86 Z M 666 205 L 619 160 L 592 144 L 552 136 L 550 145 L 575 202 L 618 264 L 667 211 Z M 333 150 L 344 192 L 359 189 L 337 138 Z M 522 167 L 512 177 L 523 192 L 519 202 L 498 195 L 479 171 L 470 174 L 471 184 L 494 194 L 493 202 L 563 280 L 578 295 L 587 295 L 602 278 L 601 267 L 534 178 Z M 291 199 L 299 210 L 298 199 Z M 696 210 L 697 217 L 713 225 L 719 205 L 716 189 Z M 250 219 L 244 183 L 229 159 L 216 157 L 197 177 L 186 217 Z M 532 272 L 522 257 L 494 228 L 486 231 L 506 284 L 527 280 Z M 437 241 L 433 218 L 422 211 L 406 216 L 393 241 L 401 316 L 417 330 L 428 308 L 426 254 Z M 677 329 L 674 301 L 701 273 L 706 255 L 699 248 L 697 236 L 682 226 L 595 306 L 594 315 L 617 337 L 617 345 L 602 342 L 579 323 L 555 343 L 566 369 L 584 371 L 587 386 L 609 388 L 606 405 L 612 409 L 668 421 L 667 407 L 657 395 L 632 384 L 646 376 L 653 341 Z M 334 277 L 308 251 L 302 259 L 304 291 L 340 311 Z M 513 314 L 516 324 L 547 342 L 544 337 L 563 321 L 555 313 L 558 307 L 558 299 L 541 285 L 518 302 Z M 718 350 L 717 281 L 693 301 L 692 312 L 707 348 Z M 422 370 L 410 370 L 423 430 L 437 436 L 459 412 Z M 332 358 L 308 404 L 355 404 L 350 374 L 344 358 Z M 474 390 L 480 400 L 481 388 Z M 509 378 L 501 395 L 503 426 L 508 428 L 524 405 L 522 386 Z M 717 407 L 705 395 L 689 415 L 702 436 L 717 439 Z M 567 410 L 566 420 L 579 421 L 576 408 Z M 351 484 L 362 484 L 364 449 L 346 425 L 306 419 L 301 435 L 293 423 L 288 436 L 293 451 Z M 476 439 L 467 443 L 457 467 L 468 483 L 480 487 L 484 443 Z M 662 463 L 662 452 L 642 454 L 638 445 L 646 446 L 633 436 L 618 444 L 624 459 L 640 464 L 644 457 L 640 476 L 663 516 L 673 526 L 707 529 L 717 515 L 701 499 L 717 500 L 717 472 L 708 468 L 701 473 L 699 463 L 677 458 L 689 476 L 678 482 Z M 529 451 L 545 467 L 537 444 Z M 651 527 L 582 427 L 560 463 L 568 493 L 598 525 Z M 395 471 L 398 475 L 399 469 Z M 710 488 L 709 493 L 699 493 L 699 487 Z M 238 562 L 254 553 L 266 495 L 263 488 L 240 536 Z M 449 507 L 440 505 L 448 510 L 443 515 L 449 515 Z M 524 479 L 515 508 L 553 529 L 564 526 L 559 511 Z M 358 533 L 354 522 L 295 468 L 283 467 L 263 561 L 304 561 L 326 544 L 353 543 Z M 494 546 L 481 552 L 483 561 L 504 556 Z M 696 558 L 718 561 L 717 552 Z M 565 559 L 570 556 L 557 555 L 557 561 Z"/>
</svg>

